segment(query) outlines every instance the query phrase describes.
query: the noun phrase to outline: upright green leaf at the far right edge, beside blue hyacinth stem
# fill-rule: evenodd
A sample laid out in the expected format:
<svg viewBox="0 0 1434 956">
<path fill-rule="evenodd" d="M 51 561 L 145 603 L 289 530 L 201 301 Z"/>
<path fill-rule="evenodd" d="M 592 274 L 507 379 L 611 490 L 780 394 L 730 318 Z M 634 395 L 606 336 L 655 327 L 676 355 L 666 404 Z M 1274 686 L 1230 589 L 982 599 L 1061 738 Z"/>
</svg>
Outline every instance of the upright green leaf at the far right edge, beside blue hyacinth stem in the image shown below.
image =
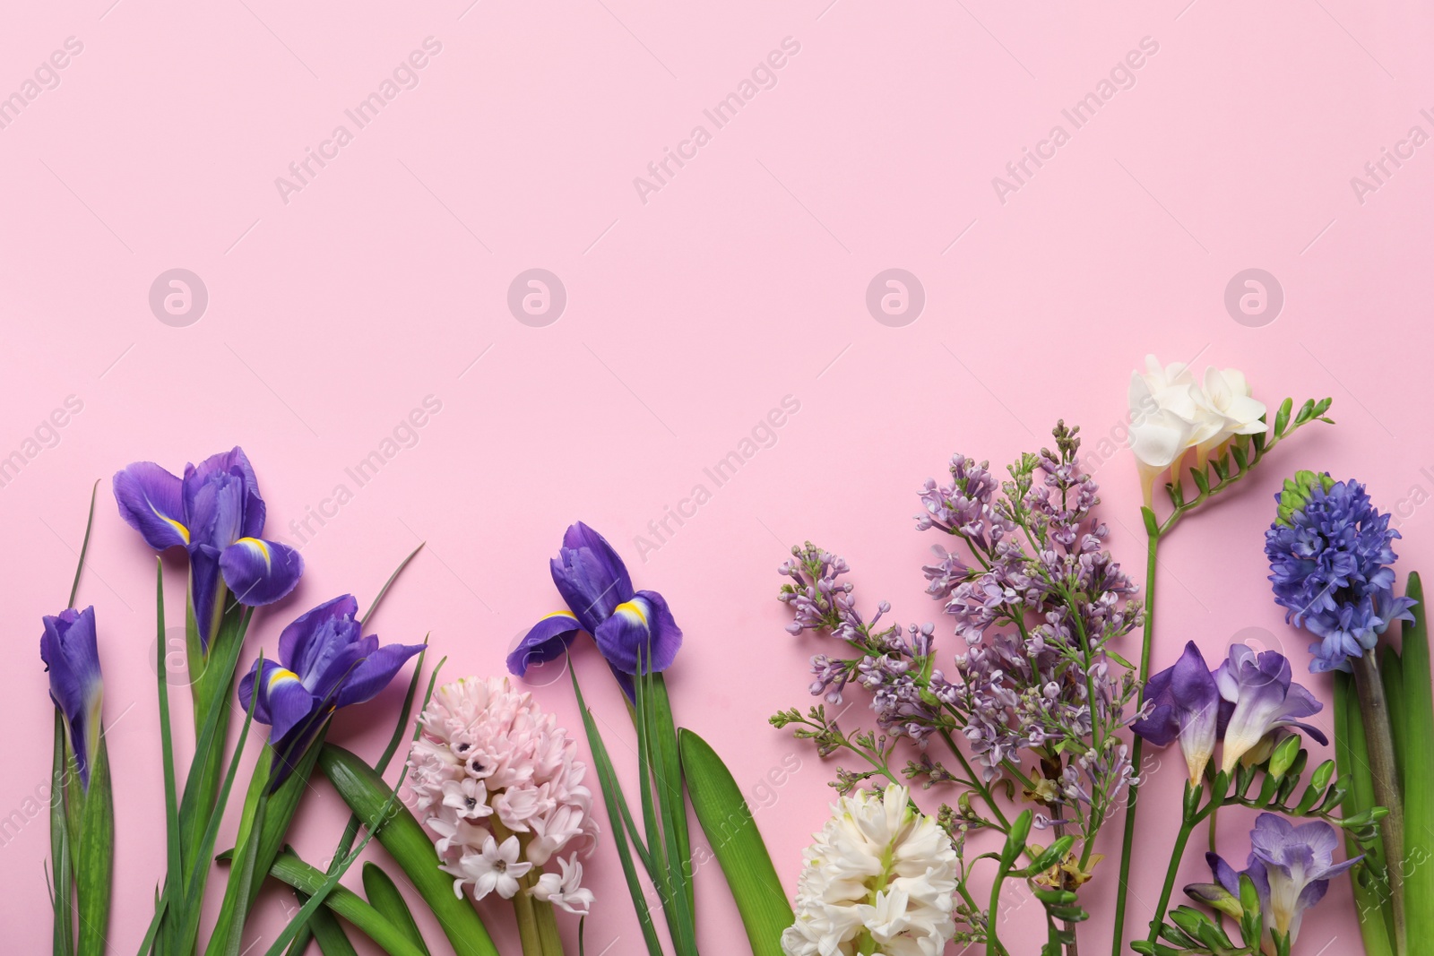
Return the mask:
<svg viewBox="0 0 1434 956">
<path fill-rule="evenodd" d="M 1420 576 L 1411 573 L 1405 595 L 1414 621 L 1404 623 L 1401 669 L 1404 694 L 1404 913 L 1408 939 L 1434 939 L 1434 691 L 1430 688 L 1430 639 Z M 1423 945 L 1423 943 L 1421 943 Z M 1412 949 L 1412 947 L 1411 947 Z"/>
</svg>

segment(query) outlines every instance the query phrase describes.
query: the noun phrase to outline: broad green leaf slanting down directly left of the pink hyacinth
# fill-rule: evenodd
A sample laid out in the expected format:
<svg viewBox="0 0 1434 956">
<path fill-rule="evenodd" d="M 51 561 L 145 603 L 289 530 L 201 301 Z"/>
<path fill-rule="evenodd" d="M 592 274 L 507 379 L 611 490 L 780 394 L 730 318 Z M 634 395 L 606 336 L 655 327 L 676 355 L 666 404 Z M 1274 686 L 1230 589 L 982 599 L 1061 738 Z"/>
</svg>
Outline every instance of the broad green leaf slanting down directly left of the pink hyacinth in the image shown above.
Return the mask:
<svg viewBox="0 0 1434 956">
<path fill-rule="evenodd" d="M 315 750 L 318 751 L 320 771 L 328 777 L 348 808 L 363 820 L 376 818 L 389 803 L 389 797 L 393 795 L 393 788 L 373 767 L 347 750 L 333 744 L 324 744 Z M 407 874 L 423 902 L 433 910 L 457 956 L 498 956 L 498 949 L 472 903 L 453 894 L 453 877 L 439 870 L 442 860 L 439 860 L 429 834 L 423 831 L 407 807 L 400 803 L 390 808 L 386 823 L 379 827 L 377 838 Z M 340 890 L 334 890 L 330 900 L 337 896 L 340 896 Z M 350 919 L 333 903 L 330 906 L 344 919 Z"/>
</svg>

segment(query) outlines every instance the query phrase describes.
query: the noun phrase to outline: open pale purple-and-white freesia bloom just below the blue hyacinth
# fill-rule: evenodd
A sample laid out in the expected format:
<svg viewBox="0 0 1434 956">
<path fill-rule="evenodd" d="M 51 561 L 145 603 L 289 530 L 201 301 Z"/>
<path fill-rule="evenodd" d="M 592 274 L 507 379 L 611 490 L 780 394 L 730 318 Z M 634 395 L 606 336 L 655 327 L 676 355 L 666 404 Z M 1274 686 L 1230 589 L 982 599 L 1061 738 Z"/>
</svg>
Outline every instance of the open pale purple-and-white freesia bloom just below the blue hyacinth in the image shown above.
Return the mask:
<svg viewBox="0 0 1434 956">
<path fill-rule="evenodd" d="M 1232 773 L 1240 757 L 1282 727 L 1298 727 L 1321 744 L 1329 742 L 1318 727 L 1299 721 L 1322 711 L 1324 704 L 1291 677 L 1283 654 L 1256 654 L 1243 644 L 1230 645 L 1229 659 L 1215 672 L 1222 698 L 1223 771 Z"/>
</svg>

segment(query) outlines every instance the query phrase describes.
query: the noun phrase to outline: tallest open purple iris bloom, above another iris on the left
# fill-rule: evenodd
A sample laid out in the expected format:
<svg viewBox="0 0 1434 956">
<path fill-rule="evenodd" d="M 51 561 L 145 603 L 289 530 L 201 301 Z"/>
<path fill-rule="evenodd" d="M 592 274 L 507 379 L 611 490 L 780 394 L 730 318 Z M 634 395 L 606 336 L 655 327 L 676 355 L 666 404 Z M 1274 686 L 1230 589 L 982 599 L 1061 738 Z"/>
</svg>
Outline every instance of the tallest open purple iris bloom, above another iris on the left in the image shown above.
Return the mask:
<svg viewBox="0 0 1434 956">
<path fill-rule="evenodd" d="M 304 573 L 297 550 L 260 537 L 264 499 L 242 449 L 186 464 L 182 479 L 135 462 L 115 474 L 115 500 L 151 548 L 189 552 L 189 595 L 205 648 L 224 612 L 224 588 L 242 605 L 268 605 Z"/>
</svg>

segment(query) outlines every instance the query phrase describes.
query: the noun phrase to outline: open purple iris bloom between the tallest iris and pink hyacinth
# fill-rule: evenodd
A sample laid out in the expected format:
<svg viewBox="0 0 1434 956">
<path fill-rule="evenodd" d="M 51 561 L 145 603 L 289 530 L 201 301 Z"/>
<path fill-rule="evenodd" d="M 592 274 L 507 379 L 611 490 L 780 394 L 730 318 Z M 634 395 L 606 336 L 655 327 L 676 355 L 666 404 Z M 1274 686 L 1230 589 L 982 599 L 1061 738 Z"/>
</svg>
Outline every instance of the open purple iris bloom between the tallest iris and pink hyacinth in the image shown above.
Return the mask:
<svg viewBox="0 0 1434 956">
<path fill-rule="evenodd" d="M 239 681 L 239 704 L 250 708 L 260 681 L 254 720 L 270 725 L 274 747 L 271 775 L 277 788 L 320 728 L 340 707 L 363 704 L 423 649 L 422 644 L 387 644 L 360 636 L 353 595 L 327 601 L 298 616 L 278 638 L 278 661 L 255 661 Z"/>
</svg>

